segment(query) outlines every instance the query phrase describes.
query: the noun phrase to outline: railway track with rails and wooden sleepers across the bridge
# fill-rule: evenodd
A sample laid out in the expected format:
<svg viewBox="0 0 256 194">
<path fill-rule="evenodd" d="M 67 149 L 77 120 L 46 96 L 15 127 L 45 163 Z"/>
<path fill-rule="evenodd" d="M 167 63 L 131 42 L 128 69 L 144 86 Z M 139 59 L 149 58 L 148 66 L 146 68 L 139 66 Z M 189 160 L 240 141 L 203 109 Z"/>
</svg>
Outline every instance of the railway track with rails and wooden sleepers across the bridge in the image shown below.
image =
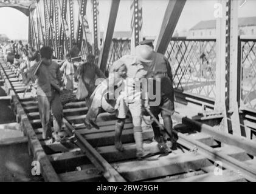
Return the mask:
<svg viewBox="0 0 256 194">
<path fill-rule="evenodd" d="M 5 91 L 29 142 L 33 158 L 40 162 L 44 181 L 256 181 L 256 144 L 242 137 L 223 135 L 212 127 L 175 115 L 178 149 L 162 155 L 151 141 L 151 127 L 143 127 L 144 147 L 152 156 L 139 161 L 133 125 L 127 119 L 122 135 L 124 152 L 114 147 L 116 118 L 100 114 L 100 130 L 83 125 L 86 104 L 74 101 L 64 107 L 65 131 L 71 141 L 49 144 L 42 140 L 37 102 L 9 64 L 1 64 Z"/>
</svg>

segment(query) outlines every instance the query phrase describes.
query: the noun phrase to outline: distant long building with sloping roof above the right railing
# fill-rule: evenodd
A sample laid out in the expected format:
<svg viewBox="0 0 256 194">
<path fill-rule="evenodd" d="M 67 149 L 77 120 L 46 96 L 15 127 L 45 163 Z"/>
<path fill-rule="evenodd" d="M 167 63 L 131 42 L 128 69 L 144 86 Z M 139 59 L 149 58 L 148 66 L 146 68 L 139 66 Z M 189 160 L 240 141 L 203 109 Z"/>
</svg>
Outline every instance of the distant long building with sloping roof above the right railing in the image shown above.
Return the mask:
<svg viewBox="0 0 256 194">
<path fill-rule="evenodd" d="M 238 18 L 238 35 L 256 38 L 256 17 Z M 190 28 L 187 38 L 216 38 L 216 20 L 198 22 Z"/>
</svg>

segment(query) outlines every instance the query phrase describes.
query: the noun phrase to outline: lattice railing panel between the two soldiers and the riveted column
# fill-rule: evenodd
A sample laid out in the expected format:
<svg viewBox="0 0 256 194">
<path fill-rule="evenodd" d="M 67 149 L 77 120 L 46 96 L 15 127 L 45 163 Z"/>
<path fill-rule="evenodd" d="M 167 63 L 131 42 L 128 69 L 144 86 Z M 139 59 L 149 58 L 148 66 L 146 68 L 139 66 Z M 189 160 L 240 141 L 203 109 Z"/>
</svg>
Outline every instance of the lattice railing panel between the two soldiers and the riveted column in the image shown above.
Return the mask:
<svg viewBox="0 0 256 194">
<path fill-rule="evenodd" d="M 215 49 L 215 39 L 171 39 L 165 56 L 175 89 L 214 99 Z"/>
</svg>

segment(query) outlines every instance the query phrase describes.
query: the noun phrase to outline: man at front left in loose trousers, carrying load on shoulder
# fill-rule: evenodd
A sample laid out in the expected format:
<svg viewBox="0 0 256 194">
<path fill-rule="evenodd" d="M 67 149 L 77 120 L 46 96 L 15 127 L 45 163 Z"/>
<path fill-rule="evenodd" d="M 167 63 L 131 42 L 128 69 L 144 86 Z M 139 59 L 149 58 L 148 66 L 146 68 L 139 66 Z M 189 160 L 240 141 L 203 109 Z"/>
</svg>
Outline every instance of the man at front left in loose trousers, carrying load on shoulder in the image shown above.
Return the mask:
<svg viewBox="0 0 256 194">
<path fill-rule="evenodd" d="M 61 141 L 59 133 L 63 119 L 63 107 L 60 101 L 60 92 L 63 90 L 60 67 L 52 61 L 53 51 L 50 47 L 40 49 L 41 61 L 33 65 L 29 72 L 29 78 L 37 77 L 38 109 L 43 127 L 43 139 L 52 139 L 52 127 L 50 124 L 50 110 L 53 113 L 54 139 Z"/>
</svg>

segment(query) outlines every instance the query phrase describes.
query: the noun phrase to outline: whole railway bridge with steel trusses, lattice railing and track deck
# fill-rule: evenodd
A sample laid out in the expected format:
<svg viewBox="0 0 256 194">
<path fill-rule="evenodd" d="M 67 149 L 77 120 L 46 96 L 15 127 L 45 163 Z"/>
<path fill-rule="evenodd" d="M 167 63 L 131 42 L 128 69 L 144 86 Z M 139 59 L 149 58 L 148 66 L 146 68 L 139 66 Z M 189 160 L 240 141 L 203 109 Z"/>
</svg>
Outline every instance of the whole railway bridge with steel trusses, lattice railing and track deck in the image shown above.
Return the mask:
<svg viewBox="0 0 256 194">
<path fill-rule="evenodd" d="M 112 63 L 133 54 L 143 35 L 142 1 L 131 0 L 130 33 L 115 36 L 120 0 L 109 0 L 106 29 L 99 28 L 101 0 L 0 1 L 29 20 L 29 43 L 37 50 L 50 45 L 63 60 L 77 45 L 80 59 L 98 57 L 106 72 Z M 153 2 L 152 2 L 153 3 Z M 11 96 L 13 110 L 26 136 L 30 155 L 40 163 L 44 181 L 255 181 L 256 180 L 256 39 L 238 36 L 238 1 L 218 1 L 216 39 L 175 38 L 185 0 L 169 0 L 159 33 L 152 41 L 156 52 L 166 56 L 175 87 L 175 133 L 178 149 L 159 156 L 153 132 L 144 126 L 145 147 L 154 153 L 136 161 L 131 120 L 123 134 L 125 152 L 114 149 L 115 116 L 102 113 L 100 130 L 86 130 L 85 102 L 64 107 L 65 144 L 42 140 L 37 102 L 18 78 L 18 70 L 1 60 L 1 79 Z M 217 15 L 218 15 L 217 14 Z M 88 18 L 91 18 L 89 21 Z M 219 162 L 219 163 L 218 163 Z M 216 176 L 220 164 L 224 176 Z M 238 171 L 240 174 L 238 174 Z"/>
</svg>

